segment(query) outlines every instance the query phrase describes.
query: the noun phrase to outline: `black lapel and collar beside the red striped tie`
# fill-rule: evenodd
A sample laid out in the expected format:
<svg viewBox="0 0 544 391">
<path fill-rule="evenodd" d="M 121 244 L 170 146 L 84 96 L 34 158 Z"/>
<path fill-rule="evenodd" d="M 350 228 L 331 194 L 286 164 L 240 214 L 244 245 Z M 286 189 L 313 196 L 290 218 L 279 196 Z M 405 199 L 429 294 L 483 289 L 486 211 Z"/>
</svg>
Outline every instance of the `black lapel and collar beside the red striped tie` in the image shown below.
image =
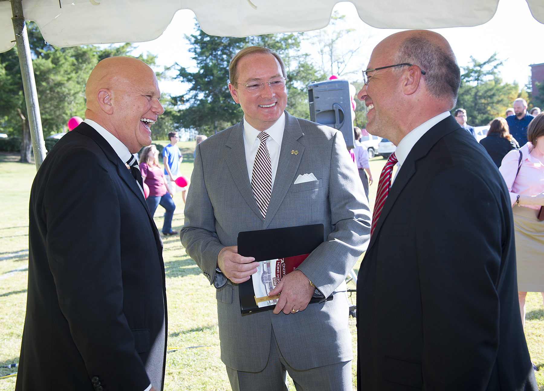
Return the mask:
<svg viewBox="0 0 544 391">
<path fill-rule="evenodd" d="M 391 211 L 395 201 L 399 197 L 400 193 L 403 191 L 406 184 L 412 178 L 413 174 L 416 173 L 416 161 L 425 157 L 429 150 L 441 140 L 442 137 L 446 136 L 449 133 L 452 133 L 455 129 L 461 128 L 460 125 L 455 121 L 453 116 L 449 116 L 442 121 L 438 122 L 434 127 L 429 129 L 412 147 L 412 150 L 406 156 L 402 167 L 397 173 L 397 177 L 391 186 L 389 194 L 385 200 L 384 208 L 381 210 L 380 218 L 376 223 L 376 228 L 374 229 L 375 235 L 370 238 L 370 243 L 368 244 L 368 249 L 372 247 L 376 241 L 376 237 L 379 236 L 380 228 L 384 224 L 384 221 Z M 461 128 L 462 129 L 462 128 Z"/>
</svg>

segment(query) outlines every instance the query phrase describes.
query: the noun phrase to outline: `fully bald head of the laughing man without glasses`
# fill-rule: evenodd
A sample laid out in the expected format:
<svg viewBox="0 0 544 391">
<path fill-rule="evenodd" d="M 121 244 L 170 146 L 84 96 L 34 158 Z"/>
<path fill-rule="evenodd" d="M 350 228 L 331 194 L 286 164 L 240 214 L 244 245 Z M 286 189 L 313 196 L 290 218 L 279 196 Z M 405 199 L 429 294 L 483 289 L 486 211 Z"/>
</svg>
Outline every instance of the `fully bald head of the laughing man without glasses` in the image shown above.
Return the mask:
<svg viewBox="0 0 544 391">
<path fill-rule="evenodd" d="M 151 125 L 164 112 L 157 77 L 149 65 L 132 57 L 98 62 L 85 87 L 92 119 L 117 137 L 131 153 L 151 144 Z"/>
</svg>

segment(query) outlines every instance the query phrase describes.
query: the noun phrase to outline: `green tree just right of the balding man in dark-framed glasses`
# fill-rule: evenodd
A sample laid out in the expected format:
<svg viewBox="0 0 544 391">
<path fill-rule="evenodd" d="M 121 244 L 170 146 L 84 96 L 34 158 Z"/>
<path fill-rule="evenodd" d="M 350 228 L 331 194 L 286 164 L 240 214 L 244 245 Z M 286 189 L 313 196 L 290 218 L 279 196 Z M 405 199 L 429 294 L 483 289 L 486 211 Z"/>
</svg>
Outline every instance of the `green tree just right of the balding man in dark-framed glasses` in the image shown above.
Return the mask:
<svg viewBox="0 0 544 391">
<path fill-rule="evenodd" d="M 475 126 L 488 124 L 493 118 L 504 115 L 506 108 L 520 95 L 516 82 L 503 83 L 500 78 L 498 69 L 502 65 L 494 53 L 484 62 L 471 56 L 470 64 L 462 67 L 456 108 L 467 111 L 468 123 Z"/>
</svg>

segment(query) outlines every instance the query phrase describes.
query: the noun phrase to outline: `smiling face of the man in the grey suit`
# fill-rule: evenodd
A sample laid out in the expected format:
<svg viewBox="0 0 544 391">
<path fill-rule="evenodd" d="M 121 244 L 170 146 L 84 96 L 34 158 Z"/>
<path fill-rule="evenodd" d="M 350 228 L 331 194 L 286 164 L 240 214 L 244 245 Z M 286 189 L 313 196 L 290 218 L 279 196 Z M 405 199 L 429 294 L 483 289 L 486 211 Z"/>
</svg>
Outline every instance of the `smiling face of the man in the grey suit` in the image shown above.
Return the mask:
<svg viewBox="0 0 544 391">
<path fill-rule="evenodd" d="M 239 103 L 245 119 L 259 131 L 270 128 L 283 114 L 287 105 L 287 89 L 273 90 L 267 81 L 283 77 L 280 63 L 268 53 L 252 53 L 237 64 L 238 83 L 228 84 L 234 102 Z M 243 85 L 265 83 L 264 88 L 251 93 Z"/>
</svg>

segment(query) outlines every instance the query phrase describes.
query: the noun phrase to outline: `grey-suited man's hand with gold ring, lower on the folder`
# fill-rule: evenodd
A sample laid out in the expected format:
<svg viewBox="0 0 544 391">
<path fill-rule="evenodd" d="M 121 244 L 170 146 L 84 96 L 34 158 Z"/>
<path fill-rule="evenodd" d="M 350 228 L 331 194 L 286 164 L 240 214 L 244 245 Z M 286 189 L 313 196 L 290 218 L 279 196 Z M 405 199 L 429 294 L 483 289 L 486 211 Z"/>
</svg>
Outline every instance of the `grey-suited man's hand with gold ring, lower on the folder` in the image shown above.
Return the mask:
<svg viewBox="0 0 544 391">
<path fill-rule="evenodd" d="M 281 292 L 280 299 L 277 301 L 274 313 L 279 314 L 282 310 L 286 315 L 304 311 L 312 299 L 316 288 L 310 285 L 310 280 L 300 270 L 286 274 L 270 291 L 270 295 Z"/>
</svg>

